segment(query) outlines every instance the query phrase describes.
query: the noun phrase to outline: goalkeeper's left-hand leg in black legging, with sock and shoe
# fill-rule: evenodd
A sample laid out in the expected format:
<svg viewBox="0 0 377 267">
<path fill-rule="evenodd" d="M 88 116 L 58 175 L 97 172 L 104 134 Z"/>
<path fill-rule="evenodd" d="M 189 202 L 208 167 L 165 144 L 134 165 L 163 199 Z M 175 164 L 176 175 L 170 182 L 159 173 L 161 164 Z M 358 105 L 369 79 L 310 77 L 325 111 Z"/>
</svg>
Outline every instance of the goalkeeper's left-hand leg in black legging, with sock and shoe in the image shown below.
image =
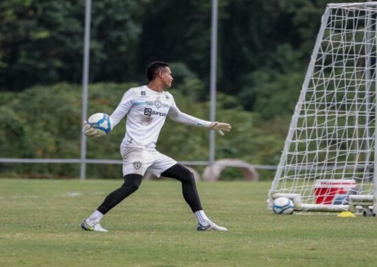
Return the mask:
<svg viewBox="0 0 377 267">
<path fill-rule="evenodd" d="M 101 205 L 99 205 L 97 210 L 93 212 L 89 218 L 84 220 L 81 225 L 82 229 L 90 231 L 106 231 L 101 225 L 99 225 L 101 218 L 108 213 L 110 209 L 123 201 L 123 199 L 138 190 L 142 179 L 142 175 L 125 175 L 123 185 L 106 196 L 106 199 Z"/>
</svg>

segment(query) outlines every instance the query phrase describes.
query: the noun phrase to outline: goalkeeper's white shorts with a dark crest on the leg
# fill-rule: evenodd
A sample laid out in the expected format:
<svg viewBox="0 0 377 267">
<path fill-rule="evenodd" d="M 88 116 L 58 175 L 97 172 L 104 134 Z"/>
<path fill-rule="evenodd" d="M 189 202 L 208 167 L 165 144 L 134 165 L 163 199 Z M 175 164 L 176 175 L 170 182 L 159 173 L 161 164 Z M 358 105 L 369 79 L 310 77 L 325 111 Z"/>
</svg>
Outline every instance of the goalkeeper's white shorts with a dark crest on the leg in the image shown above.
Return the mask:
<svg viewBox="0 0 377 267">
<path fill-rule="evenodd" d="M 156 177 L 160 177 L 161 173 L 177 164 L 177 161 L 158 151 L 138 147 L 121 147 L 121 155 L 123 177 L 130 174 L 144 175 L 147 170 Z"/>
</svg>

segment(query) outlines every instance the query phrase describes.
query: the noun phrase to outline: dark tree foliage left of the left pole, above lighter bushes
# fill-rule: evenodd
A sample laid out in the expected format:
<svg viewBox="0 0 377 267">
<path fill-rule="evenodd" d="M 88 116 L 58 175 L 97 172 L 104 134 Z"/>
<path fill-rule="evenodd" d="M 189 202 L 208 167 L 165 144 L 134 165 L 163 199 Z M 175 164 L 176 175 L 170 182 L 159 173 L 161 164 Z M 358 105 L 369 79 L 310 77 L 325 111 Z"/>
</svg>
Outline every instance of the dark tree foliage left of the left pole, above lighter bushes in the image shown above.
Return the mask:
<svg viewBox="0 0 377 267">
<path fill-rule="evenodd" d="M 0 87 L 20 90 L 81 69 L 82 1 L 1 1 Z"/>
</svg>

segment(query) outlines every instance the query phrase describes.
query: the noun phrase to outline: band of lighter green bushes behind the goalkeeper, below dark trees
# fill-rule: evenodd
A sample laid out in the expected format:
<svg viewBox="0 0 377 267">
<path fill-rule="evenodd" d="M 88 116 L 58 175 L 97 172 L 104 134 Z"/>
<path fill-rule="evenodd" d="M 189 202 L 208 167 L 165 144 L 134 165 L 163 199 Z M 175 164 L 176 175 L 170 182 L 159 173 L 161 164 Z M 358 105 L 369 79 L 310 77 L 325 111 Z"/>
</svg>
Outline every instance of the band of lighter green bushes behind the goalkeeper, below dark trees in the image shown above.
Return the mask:
<svg viewBox="0 0 377 267">
<path fill-rule="evenodd" d="M 186 77 L 181 86 L 188 88 L 196 79 Z M 93 84 L 89 87 L 88 114 L 111 114 L 125 90 L 136 84 Z M 209 103 L 199 102 L 183 90 L 172 89 L 175 101 L 182 112 L 209 119 Z M 1 93 L 1 97 L 2 98 Z M 9 93 L 4 94 L 9 98 Z M 82 90 L 71 84 L 35 86 L 12 95 L 0 107 L 0 157 L 21 158 L 80 158 Z M 263 131 L 263 120 L 258 115 L 243 110 L 234 97 L 219 94 L 217 120 L 232 125 L 225 137 L 216 136 L 217 158 L 237 158 L 263 164 L 278 162 L 279 147 L 284 135 Z M 87 138 L 87 157 L 90 159 L 120 160 L 119 144 L 124 137 L 125 120 L 104 138 Z M 267 126 L 266 126 L 267 125 Z M 267 129 L 268 123 L 263 122 Z M 208 160 L 209 131 L 182 125 L 167 119 L 160 133 L 157 149 L 176 160 Z M 0 171 L 14 171 L 12 164 L 2 164 Z M 20 164 L 16 173 L 37 177 L 77 177 L 77 166 L 71 164 Z M 88 166 L 89 177 L 121 177 L 117 165 Z"/>
</svg>

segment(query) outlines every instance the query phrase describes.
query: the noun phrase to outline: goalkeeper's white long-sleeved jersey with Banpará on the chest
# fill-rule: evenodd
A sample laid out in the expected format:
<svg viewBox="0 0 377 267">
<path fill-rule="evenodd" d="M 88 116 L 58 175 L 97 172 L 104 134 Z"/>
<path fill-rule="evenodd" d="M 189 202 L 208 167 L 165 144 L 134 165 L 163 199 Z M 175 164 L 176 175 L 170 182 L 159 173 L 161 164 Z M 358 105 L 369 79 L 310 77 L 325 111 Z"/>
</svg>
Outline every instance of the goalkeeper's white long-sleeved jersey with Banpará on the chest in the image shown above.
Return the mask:
<svg viewBox="0 0 377 267">
<path fill-rule="evenodd" d="M 158 136 L 167 116 L 187 125 L 208 126 L 210 122 L 181 112 L 169 92 L 156 92 L 147 86 L 130 88 L 112 112 L 114 127 L 127 115 L 125 138 L 121 147 L 155 150 Z"/>
</svg>

